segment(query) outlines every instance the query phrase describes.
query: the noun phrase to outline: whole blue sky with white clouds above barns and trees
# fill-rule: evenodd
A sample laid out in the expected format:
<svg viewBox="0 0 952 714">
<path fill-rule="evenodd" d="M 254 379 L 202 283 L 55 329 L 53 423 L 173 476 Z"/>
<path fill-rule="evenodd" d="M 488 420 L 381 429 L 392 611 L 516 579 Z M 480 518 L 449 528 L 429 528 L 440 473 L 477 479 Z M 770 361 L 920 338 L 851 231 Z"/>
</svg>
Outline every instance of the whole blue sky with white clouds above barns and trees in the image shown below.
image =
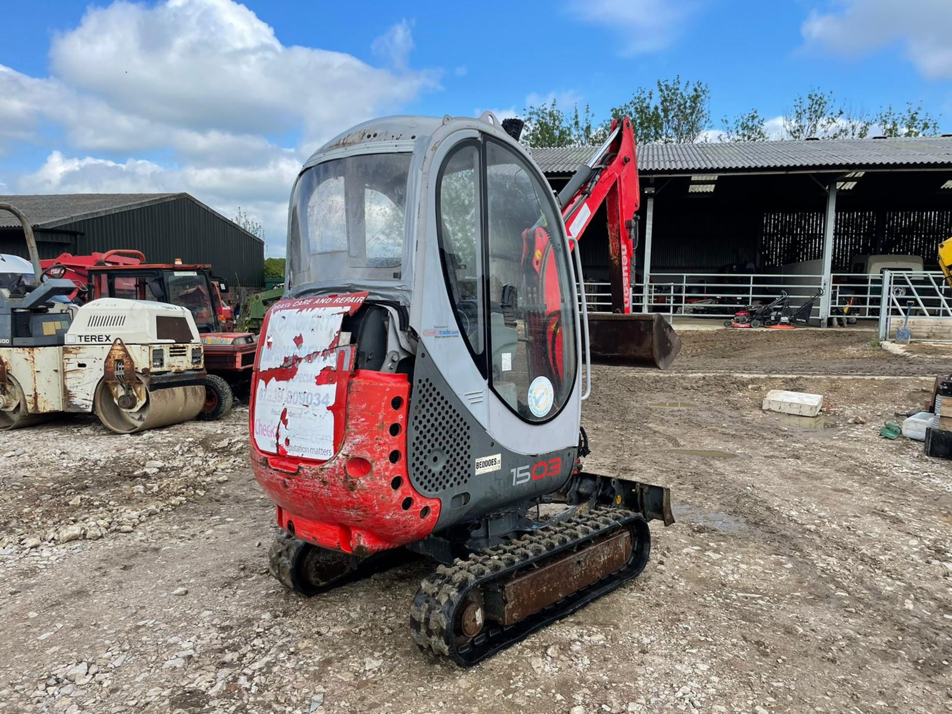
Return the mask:
<svg viewBox="0 0 952 714">
<path fill-rule="evenodd" d="M 310 150 L 381 113 L 598 117 L 681 74 L 715 120 L 801 92 L 922 103 L 952 130 L 949 0 L 5 3 L 0 192 L 188 190 L 283 251 Z"/>
</svg>

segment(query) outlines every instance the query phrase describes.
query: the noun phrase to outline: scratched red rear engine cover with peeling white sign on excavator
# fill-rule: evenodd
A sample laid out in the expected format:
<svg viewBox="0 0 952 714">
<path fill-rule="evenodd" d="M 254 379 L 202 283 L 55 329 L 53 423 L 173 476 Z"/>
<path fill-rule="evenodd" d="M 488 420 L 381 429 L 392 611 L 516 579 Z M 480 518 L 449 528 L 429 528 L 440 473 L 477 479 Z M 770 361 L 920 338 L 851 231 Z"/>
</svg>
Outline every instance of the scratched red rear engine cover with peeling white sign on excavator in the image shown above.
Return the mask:
<svg viewBox="0 0 952 714">
<path fill-rule="evenodd" d="M 369 554 L 418 541 L 440 515 L 407 474 L 407 375 L 354 370 L 341 321 L 367 293 L 285 300 L 262 327 L 251 465 L 278 524 L 314 545 Z"/>
</svg>

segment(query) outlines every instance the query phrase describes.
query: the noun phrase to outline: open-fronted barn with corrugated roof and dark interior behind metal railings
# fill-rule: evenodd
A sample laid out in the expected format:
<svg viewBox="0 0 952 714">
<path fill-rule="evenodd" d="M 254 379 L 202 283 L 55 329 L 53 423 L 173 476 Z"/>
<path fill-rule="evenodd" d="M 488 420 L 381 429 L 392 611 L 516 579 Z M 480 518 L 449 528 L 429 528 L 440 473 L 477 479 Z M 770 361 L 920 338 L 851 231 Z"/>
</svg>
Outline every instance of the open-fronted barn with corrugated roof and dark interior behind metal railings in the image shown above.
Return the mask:
<svg viewBox="0 0 952 714">
<path fill-rule="evenodd" d="M 533 157 L 561 188 L 593 150 L 534 149 Z M 829 297 L 835 273 L 855 271 L 857 256 L 915 255 L 935 270 L 936 248 L 952 236 L 949 137 L 646 145 L 638 164 L 643 303 L 645 283 L 679 274 L 713 280 L 814 262 Z M 581 243 L 586 281 L 607 279 L 601 210 L 594 227 L 605 240 L 594 232 Z"/>
</svg>

